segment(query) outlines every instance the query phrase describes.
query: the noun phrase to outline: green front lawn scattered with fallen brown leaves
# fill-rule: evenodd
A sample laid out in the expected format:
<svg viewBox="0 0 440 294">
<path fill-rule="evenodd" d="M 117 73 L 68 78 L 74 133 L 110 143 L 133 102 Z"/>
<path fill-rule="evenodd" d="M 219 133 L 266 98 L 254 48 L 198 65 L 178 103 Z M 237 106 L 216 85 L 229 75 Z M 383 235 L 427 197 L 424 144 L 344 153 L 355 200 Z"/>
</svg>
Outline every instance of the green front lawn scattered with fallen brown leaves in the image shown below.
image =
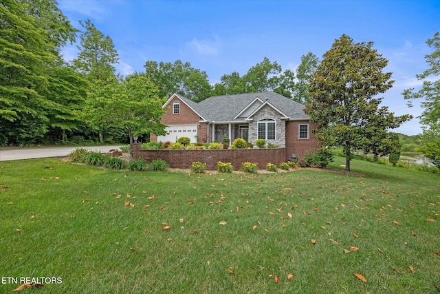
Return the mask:
<svg viewBox="0 0 440 294">
<path fill-rule="evenodd" d="M 0 167 L 0 275 L 63 280 L 30 293 L 439 293 L 436 174 L 359 160 L 351 167 L 364 177 L 112 171 L 56 158 Z"/>
</svg>

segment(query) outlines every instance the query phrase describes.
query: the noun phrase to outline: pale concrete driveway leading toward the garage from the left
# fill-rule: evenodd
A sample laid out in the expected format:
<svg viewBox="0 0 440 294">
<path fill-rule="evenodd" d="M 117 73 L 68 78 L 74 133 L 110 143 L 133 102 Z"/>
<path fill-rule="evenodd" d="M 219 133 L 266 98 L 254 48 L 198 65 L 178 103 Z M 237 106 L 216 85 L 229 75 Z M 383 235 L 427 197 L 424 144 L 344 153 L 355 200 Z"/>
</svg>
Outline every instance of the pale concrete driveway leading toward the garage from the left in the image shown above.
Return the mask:
<svg viewBox="0 0 440 294">
<path fill-rule="evenodd" d="M 13 148 L 0 150 L 0 161 L 22 160 L 30 158 L 64 157 L 76 148 L 85 148 L 91 151 L 108 152 L 110 149 L 118 149 L 122 145 L 112 146 L 85 146 L 85 147 L 32 147 L 32 148 Z"/>
</svg>

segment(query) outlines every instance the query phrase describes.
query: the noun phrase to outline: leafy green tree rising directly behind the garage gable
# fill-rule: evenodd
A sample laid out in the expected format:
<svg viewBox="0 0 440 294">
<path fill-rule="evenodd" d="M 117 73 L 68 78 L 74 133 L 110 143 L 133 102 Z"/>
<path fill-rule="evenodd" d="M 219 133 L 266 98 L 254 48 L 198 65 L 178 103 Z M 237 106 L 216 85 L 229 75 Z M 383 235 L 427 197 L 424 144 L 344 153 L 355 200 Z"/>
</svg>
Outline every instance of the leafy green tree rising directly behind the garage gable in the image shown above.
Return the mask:
<svg viewBox="0 0 440 294">
<path fill-rule="evenodd" d="M 169 97 L 177 93 L 197 102 L 211 96 L 208 74 L 191 67 L 188 62 L 146 61 L 144 67 L 146 76 L 159 87 L 159 96 Z"/>
</svg>

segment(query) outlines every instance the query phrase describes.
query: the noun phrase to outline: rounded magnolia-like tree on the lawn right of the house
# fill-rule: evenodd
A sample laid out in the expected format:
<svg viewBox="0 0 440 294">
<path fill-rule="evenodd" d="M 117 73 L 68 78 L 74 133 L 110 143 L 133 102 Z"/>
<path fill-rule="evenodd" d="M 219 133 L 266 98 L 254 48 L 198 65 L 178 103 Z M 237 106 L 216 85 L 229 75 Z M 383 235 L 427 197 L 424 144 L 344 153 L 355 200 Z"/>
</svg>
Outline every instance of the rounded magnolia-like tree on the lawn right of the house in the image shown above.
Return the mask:
<svg viewBox="0 0 440 294">
<path fill-rule="evenodd" d="M 311 103 L 305 112 L 317 123 L 322 144 L 342 147 L 346 169 L 356 150 L 371 150 L 411 116 L 394 116 L 380 107 L 378 97 L 393 87 L 388 64 L 373 49 L 373 42 L 354 43 L 346 34 L 337 39 L 322 59 L 309 85 Z M 383 131 L 383 132 L 382 132 Z"/>
</svg>

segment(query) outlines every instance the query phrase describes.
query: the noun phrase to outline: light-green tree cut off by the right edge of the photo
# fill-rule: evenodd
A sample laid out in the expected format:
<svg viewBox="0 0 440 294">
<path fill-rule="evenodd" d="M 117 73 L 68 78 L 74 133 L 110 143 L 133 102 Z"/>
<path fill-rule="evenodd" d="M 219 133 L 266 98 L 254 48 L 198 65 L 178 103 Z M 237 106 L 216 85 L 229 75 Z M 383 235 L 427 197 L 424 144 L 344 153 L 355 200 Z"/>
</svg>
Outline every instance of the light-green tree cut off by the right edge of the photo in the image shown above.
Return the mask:
<svg viewBox="0 0 440 294">
<path fill-rule="evenodd" d="M 418 91 L 410 88 L 402 94 L 408 101 L 424 98 L 421 103 L 423 112 L 420 123 L 423 125 L 423 136 L 420 149 L 440 168 L 440 32 L 436 32 L 426 43 L 434 52 L 425 56 L 428 70 L 417 74 L 423 85 Z"/>
</svg>

